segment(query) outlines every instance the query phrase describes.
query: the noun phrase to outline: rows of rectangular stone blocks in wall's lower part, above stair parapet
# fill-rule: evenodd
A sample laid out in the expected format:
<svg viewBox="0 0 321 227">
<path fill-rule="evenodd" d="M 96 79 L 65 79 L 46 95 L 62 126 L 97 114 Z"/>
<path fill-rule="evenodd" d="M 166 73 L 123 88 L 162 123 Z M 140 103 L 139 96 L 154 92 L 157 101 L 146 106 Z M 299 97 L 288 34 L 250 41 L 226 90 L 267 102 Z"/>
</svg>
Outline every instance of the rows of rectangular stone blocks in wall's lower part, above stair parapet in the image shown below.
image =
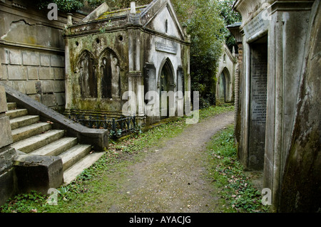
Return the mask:
<svg viewBox="0 0 321 227">
<path fill-rule="evenodd" d="M 13 48 L 0 53 L 2 82 L 48 107 L 65 105 L 64 56 Z"/>
</svg>

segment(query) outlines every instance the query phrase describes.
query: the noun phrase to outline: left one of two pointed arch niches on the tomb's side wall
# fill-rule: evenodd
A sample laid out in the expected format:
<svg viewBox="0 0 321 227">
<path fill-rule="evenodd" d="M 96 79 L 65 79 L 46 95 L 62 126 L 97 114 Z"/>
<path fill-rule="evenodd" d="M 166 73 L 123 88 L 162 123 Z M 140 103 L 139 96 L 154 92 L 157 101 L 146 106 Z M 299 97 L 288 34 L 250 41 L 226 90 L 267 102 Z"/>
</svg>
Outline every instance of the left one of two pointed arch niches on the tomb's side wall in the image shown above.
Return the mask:
<svg viewBox="0 0 321 227">
<path fill-rule="evenodd" d="M 81 97 L 97 97 L 96 60 L 89 51 L 83 51 L 78 60 L 78 80 Z"/>
</svg>

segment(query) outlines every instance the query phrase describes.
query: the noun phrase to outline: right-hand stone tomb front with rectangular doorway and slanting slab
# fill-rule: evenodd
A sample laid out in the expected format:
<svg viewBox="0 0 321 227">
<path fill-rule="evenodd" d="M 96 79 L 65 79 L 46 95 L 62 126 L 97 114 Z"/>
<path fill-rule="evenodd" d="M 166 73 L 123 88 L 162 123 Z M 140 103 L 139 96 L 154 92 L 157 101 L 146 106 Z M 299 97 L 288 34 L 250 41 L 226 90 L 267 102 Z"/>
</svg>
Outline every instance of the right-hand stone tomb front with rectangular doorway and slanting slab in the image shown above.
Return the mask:
<svg viewBox="0 0 321 227">
<path fill-rule="evenodd" d="M 320 1 L 235 1 L 242 15 L 238 156 L 272 211 L 321 207 Z M 238 118 L 238 117 L 237 117 Z"/>
</svg>

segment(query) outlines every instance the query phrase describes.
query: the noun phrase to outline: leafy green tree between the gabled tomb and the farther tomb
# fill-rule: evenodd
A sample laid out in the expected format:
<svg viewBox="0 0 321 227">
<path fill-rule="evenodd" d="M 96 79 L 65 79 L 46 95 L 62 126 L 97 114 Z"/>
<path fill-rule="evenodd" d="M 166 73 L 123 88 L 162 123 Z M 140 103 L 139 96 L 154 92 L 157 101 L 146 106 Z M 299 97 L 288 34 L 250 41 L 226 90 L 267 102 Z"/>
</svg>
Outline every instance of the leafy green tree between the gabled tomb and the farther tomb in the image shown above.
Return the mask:
<svg viewBox="0 0 321 227">
<path fill-rule="evenodd" d="M 191 90 L 200 92 L 200 107 L 214 104 L 215 74 L 223 51 L 224 21 L 218 0 L 173 0 L 178 19 L 190 35 Z"/>
</svg>

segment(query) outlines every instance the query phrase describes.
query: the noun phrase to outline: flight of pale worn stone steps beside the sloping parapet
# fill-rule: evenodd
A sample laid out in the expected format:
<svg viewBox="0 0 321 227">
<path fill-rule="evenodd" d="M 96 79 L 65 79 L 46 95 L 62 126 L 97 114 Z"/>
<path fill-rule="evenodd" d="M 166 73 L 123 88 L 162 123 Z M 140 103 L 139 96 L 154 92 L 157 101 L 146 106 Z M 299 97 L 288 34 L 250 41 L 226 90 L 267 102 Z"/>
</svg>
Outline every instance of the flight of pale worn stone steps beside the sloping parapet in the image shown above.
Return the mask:
<svg viewBox="0 0 321 227">
<path fill-rule="evenodd" d="M 39 115 L 29 115 L 28 110 L 17 108 L 15 102 L 7 104 L 11 147 L 29 155 L 61 157 L 64 184 L 69 184 L 103 155 L 103 152 L 91 152 L 89 144 L 78 144 L 76 137 L 66 137 L 64 130 L 54 130 L 53 122 L 41 122 Z"/>
</svg>

